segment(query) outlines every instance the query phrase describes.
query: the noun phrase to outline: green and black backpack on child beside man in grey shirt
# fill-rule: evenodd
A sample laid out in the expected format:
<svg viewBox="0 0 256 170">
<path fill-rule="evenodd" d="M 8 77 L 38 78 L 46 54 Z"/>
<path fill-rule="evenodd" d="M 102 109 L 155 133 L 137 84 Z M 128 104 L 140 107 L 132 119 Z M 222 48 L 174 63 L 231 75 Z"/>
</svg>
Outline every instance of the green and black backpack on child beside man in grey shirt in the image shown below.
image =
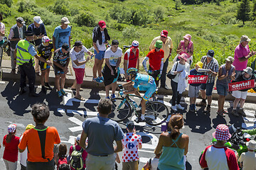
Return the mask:
<svg viewBox="0 0 256 170">
<path fill-rule="evenodd" d="M 70 166 L 75 170 L 80 170 L 83 168 L 84 161 L 82 159 L 82 152 L 84 151 L 81 148 L 79 151 L 75 149 L 75 145 L 73 145 L 73 152 L 71 153 L 70 158 Z"/>
</svg>

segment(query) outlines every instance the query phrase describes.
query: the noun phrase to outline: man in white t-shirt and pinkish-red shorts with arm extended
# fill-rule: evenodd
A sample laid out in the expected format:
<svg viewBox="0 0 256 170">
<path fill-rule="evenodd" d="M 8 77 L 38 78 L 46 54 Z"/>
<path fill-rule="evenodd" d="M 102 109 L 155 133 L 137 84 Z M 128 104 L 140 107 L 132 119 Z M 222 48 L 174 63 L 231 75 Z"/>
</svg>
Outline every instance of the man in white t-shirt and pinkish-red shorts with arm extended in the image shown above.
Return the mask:
<svg viewBox="0 0 256 170">
<path fill-rule="evenodd" d="M 85 60 L 85 52 L 90 55 Z M 70 58 L 72 60 L 72 66 L 75 72 L 75 81 L 73 87 L 75 87 L 75 98 L 78 98 L 80 101 L 85 101 L 80 95 L 80 87 L 85 75 L 85 63 L 93 57 L 93 53 L 87 50 L 87 48 L 82 45 L 81 41 L 76 41 L 74 47 L 70 50 Z"/>
</svg>

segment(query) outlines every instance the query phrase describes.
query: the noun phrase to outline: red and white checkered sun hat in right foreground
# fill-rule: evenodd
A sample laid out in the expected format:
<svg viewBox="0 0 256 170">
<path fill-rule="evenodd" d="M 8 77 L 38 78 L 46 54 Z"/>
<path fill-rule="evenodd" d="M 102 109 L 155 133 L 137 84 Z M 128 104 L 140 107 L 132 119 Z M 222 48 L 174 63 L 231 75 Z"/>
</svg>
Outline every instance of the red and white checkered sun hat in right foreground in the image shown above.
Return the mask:
<svg viewBox="0 0 256 170">
<path fill-rule="evenodd" d="M 218 125 L 216 131 L 213 132 L 213 137 L 216 140 L 228 140 L 231 137 L 228 126 L 224 124 Z"/>
</svg>

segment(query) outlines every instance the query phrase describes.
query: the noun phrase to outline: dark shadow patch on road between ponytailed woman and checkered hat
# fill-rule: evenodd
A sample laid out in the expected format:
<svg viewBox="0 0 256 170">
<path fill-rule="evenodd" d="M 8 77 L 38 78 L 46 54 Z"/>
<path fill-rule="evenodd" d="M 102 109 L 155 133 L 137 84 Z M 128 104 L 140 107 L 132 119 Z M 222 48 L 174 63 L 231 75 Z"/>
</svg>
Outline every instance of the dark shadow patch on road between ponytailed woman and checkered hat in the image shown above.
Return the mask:
<svg viewBox="0 0 256 170">
<path fill-rule="evenodd" d="M 186 119 L 184 118 L 184 124 L 191 128 L 191 132 L 204 134 L 212 129 L 210 126 L 211 120 L 208 114 L 199 110 L 196 113 L 188 111 L 186 113 Z"/>
</svg>

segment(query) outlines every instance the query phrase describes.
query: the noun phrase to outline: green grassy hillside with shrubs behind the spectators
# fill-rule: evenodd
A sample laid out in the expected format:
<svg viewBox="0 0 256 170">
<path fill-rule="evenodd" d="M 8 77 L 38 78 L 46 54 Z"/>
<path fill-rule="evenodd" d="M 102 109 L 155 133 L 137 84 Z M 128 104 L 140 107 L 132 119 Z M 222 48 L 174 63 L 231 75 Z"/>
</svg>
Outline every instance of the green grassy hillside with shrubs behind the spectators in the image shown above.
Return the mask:
<svg viewBox="0 0 256 170">
<path fill-rule="evenodd" d="M 11 1 L 11 6 L 6 6 Z M 249 1 L 250 21 L 245 25 L 235 17 L 240 1 L 193 2 L 196 3 L 186 5 L 188 3 L 182 4 L 181 0 L 1 0 L 0 11 L 4 13 L 7 35 L 16 17 L 22 16 L 28 25 L 33 22 L 33 16 L 41 16 L 51 37 L 54 28 L 60 25 L 60 18 L 67 16 L 73 26 L 72 41 L 82 40 L 86 47 L 92 46 L 94 26 L 105 20 L 111 39 L 119 40 L 120 45 L 139 40 L 142 57 L 147 54 L 151 40 L 163 29 L 169 31 L 174 42 L 172 59 L 178 42 L 186 33 L 192 35 L 195 62 L 213 49 L 218 62 L 223 63 L 225 57 L 233 56 L 244 34 L 252 39 L 250 49 L 256 50 L 252 1 Z"/>
</svg>

